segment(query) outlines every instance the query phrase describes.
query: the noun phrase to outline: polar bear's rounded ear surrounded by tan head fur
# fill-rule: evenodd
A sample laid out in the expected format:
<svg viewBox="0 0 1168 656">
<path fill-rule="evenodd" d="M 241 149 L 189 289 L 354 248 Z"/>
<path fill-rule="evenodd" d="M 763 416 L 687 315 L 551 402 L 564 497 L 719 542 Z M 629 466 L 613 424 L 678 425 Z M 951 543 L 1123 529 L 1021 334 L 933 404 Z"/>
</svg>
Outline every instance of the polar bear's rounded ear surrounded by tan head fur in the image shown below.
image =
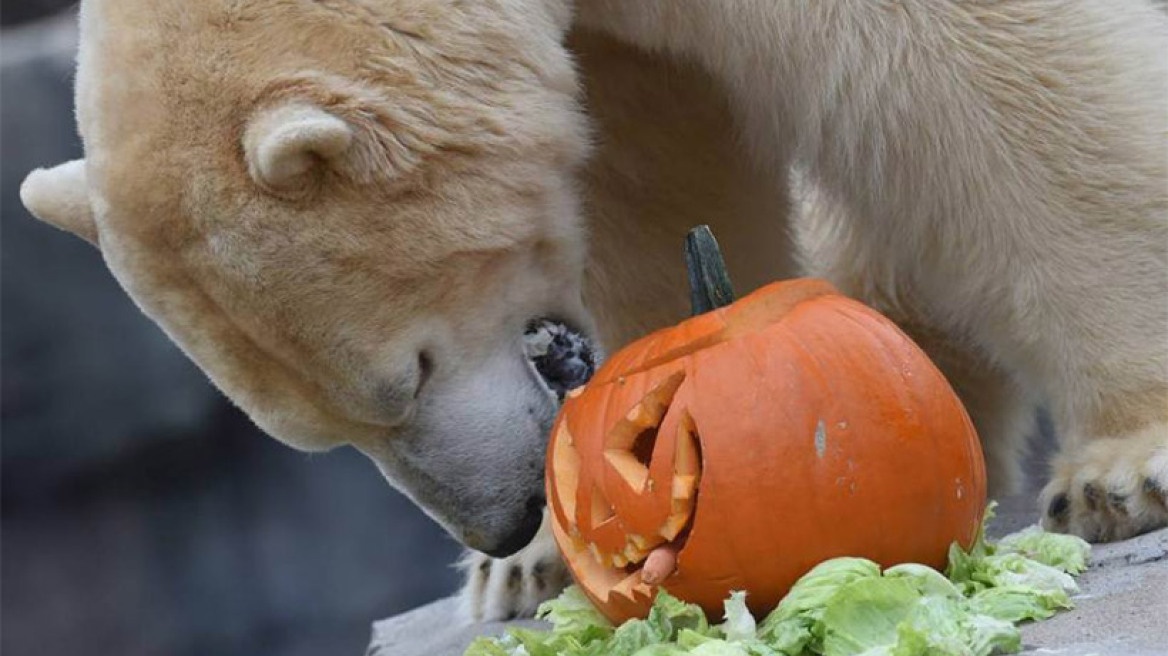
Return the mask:
<svg viewBox="0 0 1168 656">
<path fill-rule="evenodd" d="M 251 177 L 277 193 L 303 188 L 315 166 L 348 173 L 357 133 L 345 119 L 307 103 L 259 110 L 248 124 L 243 149 Z"/>
</svg>

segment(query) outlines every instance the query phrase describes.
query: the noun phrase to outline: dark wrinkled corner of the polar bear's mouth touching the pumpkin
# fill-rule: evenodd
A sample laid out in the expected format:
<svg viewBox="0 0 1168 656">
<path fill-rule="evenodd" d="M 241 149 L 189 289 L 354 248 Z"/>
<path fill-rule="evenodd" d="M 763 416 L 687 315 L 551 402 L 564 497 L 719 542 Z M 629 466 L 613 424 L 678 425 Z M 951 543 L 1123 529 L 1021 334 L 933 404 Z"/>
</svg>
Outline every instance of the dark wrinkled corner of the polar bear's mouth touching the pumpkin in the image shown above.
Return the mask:
<svg viewBox="0 0 1168 656">
<path fill-rule="evenodd" d="M 563 400 L 596 372 L 596 350 L 578 330 L 559 321 L 533 321 L 523 335 L 527 356 L 548 388 Z"/>
</svg>

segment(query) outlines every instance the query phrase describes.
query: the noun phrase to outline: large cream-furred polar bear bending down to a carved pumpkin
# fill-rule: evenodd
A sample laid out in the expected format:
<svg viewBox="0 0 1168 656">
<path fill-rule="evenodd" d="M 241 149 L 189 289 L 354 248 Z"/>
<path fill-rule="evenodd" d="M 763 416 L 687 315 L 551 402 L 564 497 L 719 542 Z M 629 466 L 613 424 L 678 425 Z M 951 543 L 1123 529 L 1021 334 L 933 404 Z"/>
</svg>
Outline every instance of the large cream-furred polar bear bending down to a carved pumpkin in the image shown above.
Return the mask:
<svg viewBox="0 0 1168 656">
<path fill-rule="evenodd" d="M 472 549 L 508 557 L 540 523 L 555 396 L 524 327 L 612 348 L 679 317 L 677 243 L 708 219 L 749 282 L 823 277 L 913 335 L 995 494 L 1045 403 L 1048 526 L 1168 523 L 1152 0 L 84 0 L 81 20 L 86 158 L 34 172 L 26 204 L 98 245 L 260 427 L 361 449 Z M 470 609 L 528 612 L 562 575 L 545 539 L 474 560 Z"/>
</svg>

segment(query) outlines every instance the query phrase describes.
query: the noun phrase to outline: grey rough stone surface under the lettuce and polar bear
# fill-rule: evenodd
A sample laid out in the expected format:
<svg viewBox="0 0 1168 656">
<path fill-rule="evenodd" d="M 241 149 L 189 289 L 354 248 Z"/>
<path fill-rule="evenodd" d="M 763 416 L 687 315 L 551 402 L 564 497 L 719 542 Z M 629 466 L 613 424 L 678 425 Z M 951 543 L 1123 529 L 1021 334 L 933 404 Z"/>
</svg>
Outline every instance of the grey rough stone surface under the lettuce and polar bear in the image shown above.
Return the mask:
<svg viewBox="0 0 1168 656">
<path fill-rule="evenodd" d="M 990 533 L 1002 536 L 1036 519 L 1034 500 L 1006 500 Z M 1079 578 L 1073 610 L 1022 627 L 1024 655 L 1168 656 L 1168 529 L 1097 545 Z M 436 601 L 376 622 L 367 656 L 461 656 L 480 635 L 542 622 L 460 624 L 458 601 Z"/>
</svg>

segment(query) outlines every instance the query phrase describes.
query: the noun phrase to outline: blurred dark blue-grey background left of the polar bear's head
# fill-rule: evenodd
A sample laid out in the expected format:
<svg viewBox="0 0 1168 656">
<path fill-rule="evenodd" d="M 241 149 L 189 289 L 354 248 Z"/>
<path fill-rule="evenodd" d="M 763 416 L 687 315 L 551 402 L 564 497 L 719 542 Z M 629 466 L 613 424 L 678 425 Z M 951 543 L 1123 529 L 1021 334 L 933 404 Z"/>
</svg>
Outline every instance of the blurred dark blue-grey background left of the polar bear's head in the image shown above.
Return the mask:
<svg viewBox="0 0 1168 656">
<path fill-rule="evenodd" d="M 355 452 L 260 434 L 28 216 L 25 174 L 81 154 L 76 32 L 56 0 L 0 21 L 0 651 L 362 654 L 457 588 L 459 547 Z"/>
</svg>

